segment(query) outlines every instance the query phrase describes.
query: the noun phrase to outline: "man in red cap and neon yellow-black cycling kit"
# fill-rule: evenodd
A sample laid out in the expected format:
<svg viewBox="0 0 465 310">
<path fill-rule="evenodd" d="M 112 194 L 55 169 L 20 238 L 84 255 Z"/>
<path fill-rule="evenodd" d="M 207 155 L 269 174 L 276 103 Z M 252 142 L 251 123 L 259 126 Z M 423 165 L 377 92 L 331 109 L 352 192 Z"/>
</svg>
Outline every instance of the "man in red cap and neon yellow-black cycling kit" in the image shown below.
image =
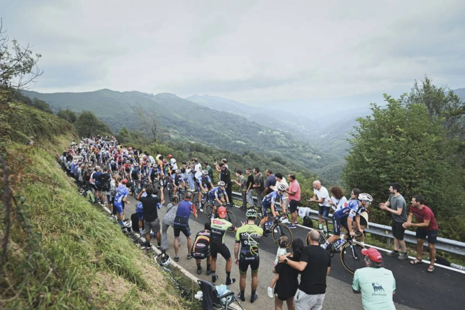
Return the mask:
<svg viewBox="0 0 465 310">
<path fill-rule="evenodd" d="M 210 224 L 210 251 L 212 255 L 212 282 L 215 283 L 218 279 L 218 276 L 215 274 L 216 271 L 216 258 L 218 253 L 226 259 L 226 285 L 233 284 L 236 282 L 236 279 L 231 279 L 231 252 L 225 244 L 225 233 L 229 227 L 233 227 L 233 224 L 226 221 L 226 208 L 220 206 L 218 208 L 218 217 L 213 218 L 212 223 Z M 237 231 L 237 227 L 234 227 L 234 230 Z"/>
</svg>

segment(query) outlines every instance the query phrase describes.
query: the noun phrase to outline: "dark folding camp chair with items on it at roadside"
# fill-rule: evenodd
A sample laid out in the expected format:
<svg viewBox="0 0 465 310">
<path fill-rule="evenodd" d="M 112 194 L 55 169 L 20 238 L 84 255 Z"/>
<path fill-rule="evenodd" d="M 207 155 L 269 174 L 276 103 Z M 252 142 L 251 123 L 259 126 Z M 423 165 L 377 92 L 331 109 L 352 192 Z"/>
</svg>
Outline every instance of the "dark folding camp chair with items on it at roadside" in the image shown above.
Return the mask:
<svg viewBox="0 0 465 310">
<path fill-rule="evenodd" d="M 223 295 L 219 295 L 216 287 L 210 282 L 197 280 L 200 290 L 203 293 L 202 297 L 202 310 L 228 310 L 231 309 L 230 305 L 237 302 L 240 309 L 244 310 L 234 296 L 233 291 L 226 292 Z M 223 299 L 224 298 L 224 299 Z M 223 299 L 223 302 L 221 301 Z"/>
</svg>

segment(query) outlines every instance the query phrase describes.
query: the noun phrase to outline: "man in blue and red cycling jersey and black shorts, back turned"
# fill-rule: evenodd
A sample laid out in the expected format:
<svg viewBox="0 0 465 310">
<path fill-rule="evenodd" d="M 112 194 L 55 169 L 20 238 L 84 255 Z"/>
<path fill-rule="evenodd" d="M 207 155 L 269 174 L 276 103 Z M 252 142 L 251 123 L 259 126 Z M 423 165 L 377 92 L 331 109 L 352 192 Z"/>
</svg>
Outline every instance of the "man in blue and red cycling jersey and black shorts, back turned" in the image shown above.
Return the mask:
<svg viewBox="0 0 465 310">
<path fill-rule="evenodd" d="M 191 259 L 193 256 L 190 253 L 192 249 L 192 236 L 191 229 L 189 227 L 189 217 L 191 213 L 194 214 L 194 217 L 197 218 L 197 210 L 195 206 L 191 203 L 192 192 L 187 191 L 186 197 L 178 205 L 178 210 L 176 211 L 176 217 L 174 218 L 174 260 L 179 262 L 179 233 L 182 231 L 184 236 L 187 238 L 187 259 Z"/>
</svg>

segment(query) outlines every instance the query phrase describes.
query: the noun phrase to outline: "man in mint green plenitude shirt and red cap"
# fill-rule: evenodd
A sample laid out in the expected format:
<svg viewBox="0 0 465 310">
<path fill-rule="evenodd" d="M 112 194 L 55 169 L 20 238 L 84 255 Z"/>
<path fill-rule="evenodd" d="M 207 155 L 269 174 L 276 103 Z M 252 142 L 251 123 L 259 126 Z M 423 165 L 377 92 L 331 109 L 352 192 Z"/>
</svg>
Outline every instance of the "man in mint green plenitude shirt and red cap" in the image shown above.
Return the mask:
<svg viewBox="0 0 465 310">
<path fill-rule="evenodd" d="M 363 249 L 365 268 L 355 270 L 352 290 L 362 293 L 364 310 L 395 310 L 392 296 L 396 292 L 396 280 L 391 270 L 383 268 L 383 257 L 374 248 Z"/>
</svg>

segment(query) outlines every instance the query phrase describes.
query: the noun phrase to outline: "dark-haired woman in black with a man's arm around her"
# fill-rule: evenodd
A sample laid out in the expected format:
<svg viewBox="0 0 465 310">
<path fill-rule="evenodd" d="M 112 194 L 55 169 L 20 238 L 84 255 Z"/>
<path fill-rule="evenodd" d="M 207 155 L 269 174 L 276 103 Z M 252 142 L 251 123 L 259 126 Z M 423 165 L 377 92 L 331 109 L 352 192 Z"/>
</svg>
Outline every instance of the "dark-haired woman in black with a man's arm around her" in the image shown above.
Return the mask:
<svg viewBox="0 0 465 310">
<path fill-rule="evenodd" d="M 287 257 L 288 260 L 299 262 L 300 255 L 304 250 L 304 242 L 297 238 L 292 242 L 292 254 Z M 274 267 L 276 274 L 279 275 L 274 287 L 274 309 L 282 310 L 283 302 L 287 304 L 288 310 L 294 310 L 294 296 L 299 288 L 299 270 L 292 268 L 288 264 L 279 263 Z"/>
</svg>

